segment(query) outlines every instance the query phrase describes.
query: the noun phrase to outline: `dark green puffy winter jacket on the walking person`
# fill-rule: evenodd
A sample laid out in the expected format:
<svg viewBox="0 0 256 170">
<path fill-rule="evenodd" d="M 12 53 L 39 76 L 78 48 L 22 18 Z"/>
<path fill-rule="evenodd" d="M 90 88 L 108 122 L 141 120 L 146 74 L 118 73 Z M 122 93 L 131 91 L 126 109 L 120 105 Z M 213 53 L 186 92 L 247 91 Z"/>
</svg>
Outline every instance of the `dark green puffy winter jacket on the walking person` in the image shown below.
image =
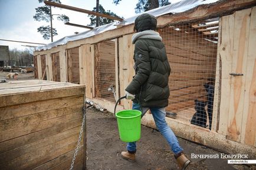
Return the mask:
<svg viewBox="0 0 256 170">
<path fill-rule="evenodd" d="M 143 32 L 149 33 L 145 35 Z M 126 91 L 135 94 L 133 102 L 143 107 L 165 107 L 168 106 L 170 94 L 168 85 L 170 65 L 162 38 L 159 39 L 157 32 L 155 34 L 158 36 L 155 34 L 150 36 L 152 32 L 154 31 L 138 32 L 136 37 L 133 37 L 136 75 Z"/>
</svg>

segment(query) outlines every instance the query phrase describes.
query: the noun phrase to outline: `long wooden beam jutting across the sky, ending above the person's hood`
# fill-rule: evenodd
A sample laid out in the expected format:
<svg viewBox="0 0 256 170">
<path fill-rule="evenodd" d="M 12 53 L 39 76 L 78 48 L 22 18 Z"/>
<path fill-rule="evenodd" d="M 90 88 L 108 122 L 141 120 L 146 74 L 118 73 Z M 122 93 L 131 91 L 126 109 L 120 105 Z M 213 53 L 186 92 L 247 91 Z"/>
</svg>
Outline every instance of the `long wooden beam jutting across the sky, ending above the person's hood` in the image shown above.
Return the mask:
<svg viewBox="0 0 256 170">
<path fill-rule="evenodd" d="M 98 12 L 93 12 L 93 11 L 89 11 L 89 10 L 82 9 L 82 8 L 76 8 L 74 6 L 57 4 L 57 3 L 54 3 L 54 2 L 50 2 L 50 1 L 44 1 L 44 4 L 45 5 L 50 5 L 50 6 L 55 6 L 55 7 L 58 7 L 58 8 L 69 9 L 71 11 L 77 11 L 77 12 L 82 12 L 82 13 L 86 13 L 86 14 L 90 14 L 90 15 L 101 16 L 101 17 L 104 17 L 104 18 L 109 18 L 109 19 L 113 19 L 113 20 L 117 20 L 117 21 L 123 21 L 123 19 L 119 18 L 119 17 L 110 16 L 110 15 L 106 15 L 106 14 L 100 14 Z"/>
</svg>

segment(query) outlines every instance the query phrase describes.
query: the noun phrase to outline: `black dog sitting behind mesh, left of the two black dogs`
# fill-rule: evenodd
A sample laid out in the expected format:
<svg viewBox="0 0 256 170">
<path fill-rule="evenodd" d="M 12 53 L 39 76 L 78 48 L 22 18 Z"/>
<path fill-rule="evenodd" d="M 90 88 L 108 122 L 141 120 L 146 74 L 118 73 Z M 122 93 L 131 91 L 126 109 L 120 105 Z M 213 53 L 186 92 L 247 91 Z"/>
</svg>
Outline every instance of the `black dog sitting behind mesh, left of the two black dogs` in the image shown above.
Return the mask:
<svg viewBox="0 0 256 170">
<path fill-rule="evenodd" d="M 207 115 L 205 111 L 206 102 L 195 100 L 195 114 L 191 119 L 191 124 L 206 128 Z"/>
</svg>

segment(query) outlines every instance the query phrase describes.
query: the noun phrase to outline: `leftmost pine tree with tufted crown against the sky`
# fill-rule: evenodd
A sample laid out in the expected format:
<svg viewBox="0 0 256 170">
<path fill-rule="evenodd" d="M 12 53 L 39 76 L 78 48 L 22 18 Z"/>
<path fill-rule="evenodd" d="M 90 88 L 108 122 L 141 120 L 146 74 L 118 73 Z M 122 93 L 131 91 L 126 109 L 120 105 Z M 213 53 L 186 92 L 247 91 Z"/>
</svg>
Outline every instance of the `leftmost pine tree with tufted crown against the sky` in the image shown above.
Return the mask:
<svg viewBox="0 0 256 170">
<path fill-rule="evenodd" d="M 61 4 L 60 0 L 50 0 L 50 1 Z M 44 1 L 43 0 L 38 0 L 38 2 L 42 3 Z M 33 16 L 33 18 L 35 19 L 35 21 L 51 22 L 51 18 L 52 18 L 51 16 L 52 16 L 51 6 L 44 5 L 44 6 L 39 6 L 38 8 L 35 8 L 35 15 Z M 68 18 L 68 16 L 66 16 L 66 15 L 59 15 L 57 17 L 57 19 L 59 21 L 63 21 L 63 22 L 68 22 L 70 20 Z M 40 32 L 44 39 L 50 39 L 51 38 L 51 40 L 52 40 L 51 26 L 50 25 L 40 26 L 39 28 L 37 28 L 37 32 Z M 55 35 L 58 35 L 57 30 L 55 28 L 52 28 L 52 36 L 55 36 Z"/>
</svg>

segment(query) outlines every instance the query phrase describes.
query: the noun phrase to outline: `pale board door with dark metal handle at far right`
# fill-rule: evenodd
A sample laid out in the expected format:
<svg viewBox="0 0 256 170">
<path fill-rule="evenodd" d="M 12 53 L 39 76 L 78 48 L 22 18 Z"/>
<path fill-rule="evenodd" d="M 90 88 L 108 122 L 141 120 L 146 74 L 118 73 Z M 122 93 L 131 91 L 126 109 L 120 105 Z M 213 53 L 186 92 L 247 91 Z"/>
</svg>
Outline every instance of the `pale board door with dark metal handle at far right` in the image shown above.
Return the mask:
<svg viewBox="0 0 256 170">
<path fill-rule="evenodd" d="M 254 7 L 222 17 L 219 46 L 222 86 L 218 132 L 252 146 L 256 146 L 255 11 Z"/>
</svg>

